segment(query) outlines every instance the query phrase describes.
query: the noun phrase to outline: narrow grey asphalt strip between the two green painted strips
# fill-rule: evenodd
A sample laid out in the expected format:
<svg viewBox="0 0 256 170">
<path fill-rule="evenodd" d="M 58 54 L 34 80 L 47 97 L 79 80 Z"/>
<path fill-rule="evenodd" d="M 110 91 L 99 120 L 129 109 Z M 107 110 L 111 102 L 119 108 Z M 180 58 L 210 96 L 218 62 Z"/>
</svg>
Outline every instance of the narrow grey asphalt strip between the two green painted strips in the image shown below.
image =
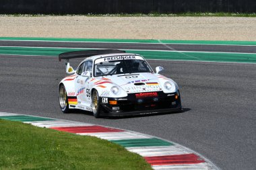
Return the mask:
<svg viewBox="0 0 256 170">
<path fill-rule="evenodd" d="M 98 42 L 36 42 L 36 41 L 0 41 L 1 46 L 32 46 L 32 47 L 61 47 L 61 48 L 116 48 L 132 50 L 178 50 L 198 52 L 247 52 L 256 53 L 255 46 L 236 45 L 196 45 L 196 44 L 150 44 L 150 43 L 98 43 Z"/>
</svg>

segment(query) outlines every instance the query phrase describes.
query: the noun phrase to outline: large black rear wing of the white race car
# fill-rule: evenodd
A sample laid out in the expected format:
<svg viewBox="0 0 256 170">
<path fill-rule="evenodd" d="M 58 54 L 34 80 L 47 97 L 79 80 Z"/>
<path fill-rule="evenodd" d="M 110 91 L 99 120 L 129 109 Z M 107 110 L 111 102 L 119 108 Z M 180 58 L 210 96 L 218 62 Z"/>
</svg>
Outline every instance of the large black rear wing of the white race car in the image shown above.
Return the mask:
<svg viewBox="0 0 256 170">
<path fill-rule="evenodd" d="M 86 58 L 89 56 L 95 56 L 100 54 L 111 54 L 111 53 L 125 53 L 125 51 L 123 50 L 82 50 L 82 51 L 64 52 L 59 54 L 59 61 L 61 61 L 61 59 L 69 60 L 71 58 Z"/>
</svg>

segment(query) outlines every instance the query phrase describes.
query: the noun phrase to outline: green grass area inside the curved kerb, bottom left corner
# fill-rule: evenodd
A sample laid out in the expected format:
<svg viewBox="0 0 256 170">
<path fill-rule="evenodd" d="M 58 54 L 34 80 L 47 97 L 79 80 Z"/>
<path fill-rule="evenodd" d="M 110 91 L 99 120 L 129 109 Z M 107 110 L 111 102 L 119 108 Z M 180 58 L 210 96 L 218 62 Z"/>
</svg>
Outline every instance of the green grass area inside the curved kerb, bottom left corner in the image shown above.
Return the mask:
<svg viewBox="0 0 256 170">
<path fill-rule="evenodd" d="M 151 169 L 107 140 L 0 120 L 0 169 Z"/>
</svg>

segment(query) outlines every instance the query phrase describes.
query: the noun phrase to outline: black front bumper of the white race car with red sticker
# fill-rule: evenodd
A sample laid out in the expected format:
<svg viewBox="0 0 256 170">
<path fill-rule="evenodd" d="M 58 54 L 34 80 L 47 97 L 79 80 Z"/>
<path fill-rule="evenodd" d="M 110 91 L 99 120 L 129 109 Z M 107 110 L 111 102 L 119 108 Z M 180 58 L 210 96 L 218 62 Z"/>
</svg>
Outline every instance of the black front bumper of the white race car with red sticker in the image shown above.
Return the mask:
<svg viewBox="0 0 256 170">
<path fill-rule="evenodd" d="M 164 93 L 162 91 L 152 93 L 130 93 L 127 97 L 107 98 L 108 103 L 106 103 L 106 97 L 100 97 L 102 115 L 104 116 L 130 116 L 181 112 L 181 95 L 179 94 L 179 91 L 175 93 Z M 116 103 L 110 104 L 110 101 Z"/>
</svg>

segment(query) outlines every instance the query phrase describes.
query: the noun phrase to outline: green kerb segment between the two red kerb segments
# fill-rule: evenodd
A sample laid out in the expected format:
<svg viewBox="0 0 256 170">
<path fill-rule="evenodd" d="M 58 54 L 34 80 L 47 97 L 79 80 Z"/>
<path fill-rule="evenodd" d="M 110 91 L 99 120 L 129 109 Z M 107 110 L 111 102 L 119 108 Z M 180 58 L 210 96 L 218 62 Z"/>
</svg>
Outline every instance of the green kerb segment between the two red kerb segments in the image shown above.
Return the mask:
<svg viewBox="0 0 256 170">
<path fill-rule="evenodd" d="M 140 146 L 172 146 L 171 142 L 166 142 L 159 138 L 137 138 L 127 140 L 110 140 L 124 147 L 140 147 Z"/>
</svg>

